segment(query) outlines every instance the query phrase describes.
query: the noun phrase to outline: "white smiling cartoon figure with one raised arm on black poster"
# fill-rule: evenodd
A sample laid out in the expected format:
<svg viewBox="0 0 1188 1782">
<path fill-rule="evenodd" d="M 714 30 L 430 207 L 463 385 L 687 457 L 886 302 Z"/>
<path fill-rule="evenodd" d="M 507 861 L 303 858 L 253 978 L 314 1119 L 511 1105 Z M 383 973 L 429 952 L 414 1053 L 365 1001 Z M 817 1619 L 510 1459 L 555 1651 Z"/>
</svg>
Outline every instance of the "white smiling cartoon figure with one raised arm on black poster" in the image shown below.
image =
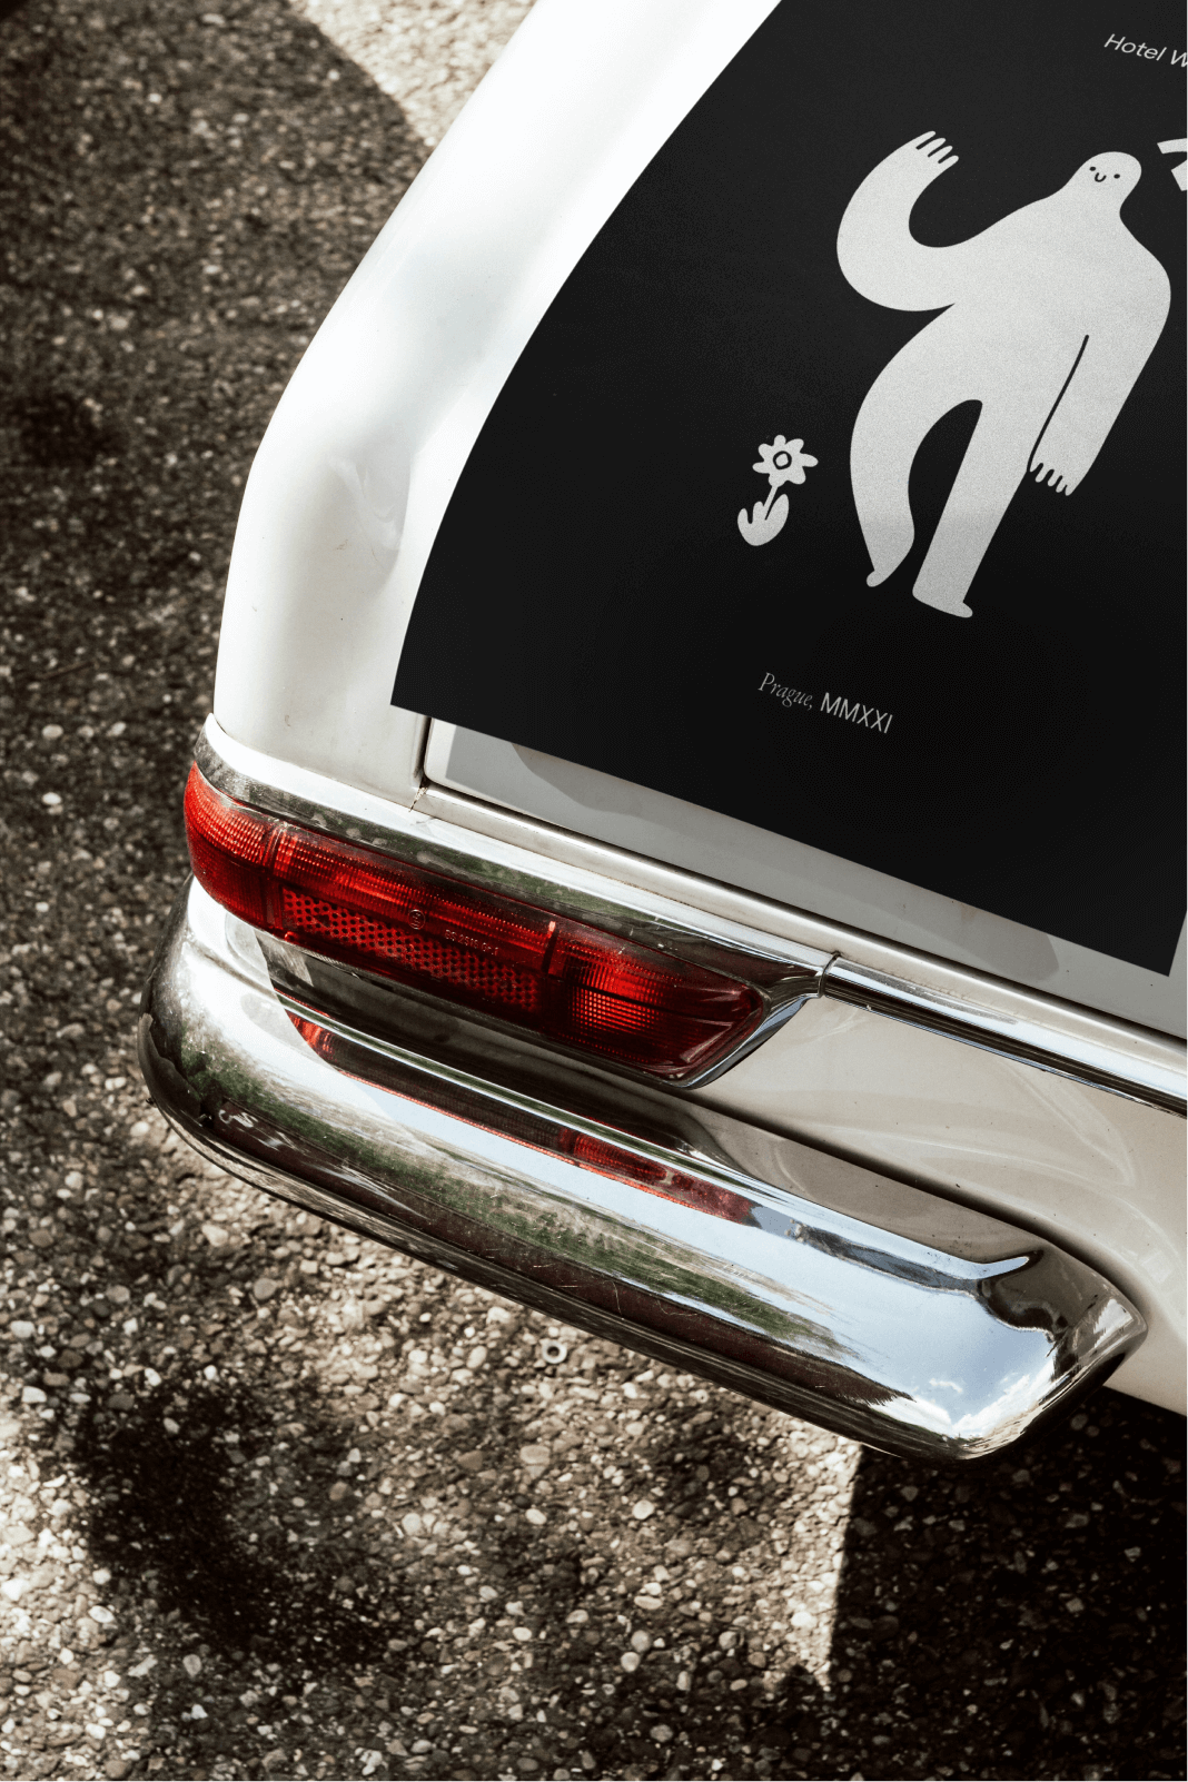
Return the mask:
<svg viewBox="0 0 1188 1782">
<path fill-rule="evenodd" d="M 1070 495 L 1154 347 L 1167 273 L 1119 210 L 1142 166 L 1094 155 L 1051 198 L 951 248 L 912 237 L 915 200 L 956 155 L 905 143 L 862 180 L 837 233 L 841 269 L 894 310 L 944 310 L 896 353 L 858 410 L 850 476 L 876 588 L 912 549 L 912 460 L 960 403 L 981 413 L 914 593 L 969 618 L 969 584 L 1022 478 Z"/>
</svg>

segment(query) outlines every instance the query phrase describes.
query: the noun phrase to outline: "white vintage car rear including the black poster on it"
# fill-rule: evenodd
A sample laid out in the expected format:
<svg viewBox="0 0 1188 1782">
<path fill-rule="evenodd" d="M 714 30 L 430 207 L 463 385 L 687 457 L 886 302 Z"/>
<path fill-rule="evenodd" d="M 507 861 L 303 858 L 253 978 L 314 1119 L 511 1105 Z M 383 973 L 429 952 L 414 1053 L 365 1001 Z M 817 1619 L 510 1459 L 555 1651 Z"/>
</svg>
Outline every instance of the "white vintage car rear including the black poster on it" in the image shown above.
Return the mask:
<svg viewBox="0 0 1188 1782">
<path fill-rule="evenodd" d="M 141 1057 L 967 1459 L 1183 1395 L 1183 128 L 1076 11 L 867 12 L 541 0 L 483 82 L 248 481 Z"/>
</svg>

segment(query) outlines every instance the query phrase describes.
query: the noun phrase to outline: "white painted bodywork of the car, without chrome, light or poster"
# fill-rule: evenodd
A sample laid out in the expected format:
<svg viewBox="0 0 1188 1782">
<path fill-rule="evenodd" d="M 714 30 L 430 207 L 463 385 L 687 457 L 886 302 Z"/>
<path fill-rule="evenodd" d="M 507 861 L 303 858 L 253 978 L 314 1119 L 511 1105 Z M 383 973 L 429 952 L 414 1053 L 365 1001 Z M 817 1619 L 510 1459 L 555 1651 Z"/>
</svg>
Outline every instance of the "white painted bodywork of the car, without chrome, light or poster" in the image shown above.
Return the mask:
<svg viewBox="0 0 1188 1782">
<path fill-rule="evenodd" d="M 390 704 L 429 549 L 504 380 L 632 180 L 771 11 L 773 0 L 541 0 L 278 405 L 244 494 L 212 736 L 253 779 L 347 816 L 385 823 L 413 807 L 426 825 L 593 864 L 1183 1067 L 1183 1048 L 1163 1037 L 1184 1025 L 1183 936 L 1170 978 L 1158 978 Z M 1176 1116 L 826 1001 L 693 1094 L 1058 1240 L 1151 1326 L 1113 1385 L 1183 1408 Z"/>
</svg>

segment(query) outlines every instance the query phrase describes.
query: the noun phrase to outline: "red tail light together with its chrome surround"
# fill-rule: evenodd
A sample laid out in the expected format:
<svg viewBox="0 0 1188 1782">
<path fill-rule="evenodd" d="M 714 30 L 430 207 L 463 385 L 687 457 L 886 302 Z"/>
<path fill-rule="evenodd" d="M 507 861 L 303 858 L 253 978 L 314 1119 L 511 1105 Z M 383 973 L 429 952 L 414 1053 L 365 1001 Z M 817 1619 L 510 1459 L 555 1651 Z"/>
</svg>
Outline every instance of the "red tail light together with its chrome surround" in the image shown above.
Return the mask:
<svg viewBox="0 0 1188 1782">
<path fill-rule="evenodd" d="M 237 784 L 210 747 L 185 789 L 194 875 L 232 914 L 604 1069 L 700 1087 L 821 989 L 821 950 L 590 873 L 533 880 L 499 850 L 461 854 L 442 846 L 445 825 L 399 816 L 342 825 Z"/>
</svg>

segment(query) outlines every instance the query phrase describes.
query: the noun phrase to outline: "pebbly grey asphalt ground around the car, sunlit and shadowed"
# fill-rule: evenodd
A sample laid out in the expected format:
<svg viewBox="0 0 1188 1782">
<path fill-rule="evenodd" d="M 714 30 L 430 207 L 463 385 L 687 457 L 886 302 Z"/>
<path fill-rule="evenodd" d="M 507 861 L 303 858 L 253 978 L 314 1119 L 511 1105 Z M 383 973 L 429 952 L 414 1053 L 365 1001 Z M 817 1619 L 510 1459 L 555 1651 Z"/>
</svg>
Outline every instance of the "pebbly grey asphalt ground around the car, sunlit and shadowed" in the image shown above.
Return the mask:
<svg viewBox="0 0 1188 1782">
<path fill-rule="evenodd" d="M 1177 1418 L 1104 1390 L 976 1474 L 887 1459 L 148 1107 L 244 474 L 525 11 L 219 7 L 0 23 L 2 1773 L 1183 1777 Z"/>
</svg>

